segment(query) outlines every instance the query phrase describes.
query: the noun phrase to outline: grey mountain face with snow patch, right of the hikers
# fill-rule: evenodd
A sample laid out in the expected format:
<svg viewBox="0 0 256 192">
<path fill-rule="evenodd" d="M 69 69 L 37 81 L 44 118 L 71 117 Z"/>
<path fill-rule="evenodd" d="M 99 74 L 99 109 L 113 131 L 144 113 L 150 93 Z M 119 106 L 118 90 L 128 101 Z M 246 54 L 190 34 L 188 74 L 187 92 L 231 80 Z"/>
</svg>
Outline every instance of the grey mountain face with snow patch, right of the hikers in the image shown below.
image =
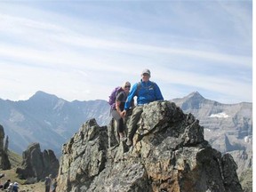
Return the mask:
<svg viewBox="0 0 256 192">
<path fill-rule="evenodd" d="M 240 175 L 252 166 L 252 103 L 221 104 L 198 92 L 172 100 L 204 126 L 204 138 L 212 148 L 235 158 Z"/>
</svg>

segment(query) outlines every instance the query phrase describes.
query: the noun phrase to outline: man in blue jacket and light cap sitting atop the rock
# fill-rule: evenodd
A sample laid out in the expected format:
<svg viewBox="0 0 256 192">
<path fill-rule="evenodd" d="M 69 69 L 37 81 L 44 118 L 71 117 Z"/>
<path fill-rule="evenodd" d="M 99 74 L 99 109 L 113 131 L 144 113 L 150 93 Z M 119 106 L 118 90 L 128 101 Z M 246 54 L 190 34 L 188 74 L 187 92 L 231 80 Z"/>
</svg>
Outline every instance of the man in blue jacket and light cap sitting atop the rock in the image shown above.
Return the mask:
<svg viewBox="0 0 256 192">
<path fill-rule="evenodd" d="M 132 117 L 128 127 L 126 142 L 128 146 L 132 145 L 132 138 L 137 131 L 137 123 L 139 122 L 140 115 L 143 112 L 143 106 L 155 100 L 164 100 L 158 85 L 149 81 L 149 78 L 150 70 L 146 68 L 141 73 L 140 82 L 132 86 L 132 90 L 124 104 L 123 116 L 126 115 L 126 111 L 131 107 L 133 97 L 137 96 L 137 106 L 132 111 Z"/>
</svg>

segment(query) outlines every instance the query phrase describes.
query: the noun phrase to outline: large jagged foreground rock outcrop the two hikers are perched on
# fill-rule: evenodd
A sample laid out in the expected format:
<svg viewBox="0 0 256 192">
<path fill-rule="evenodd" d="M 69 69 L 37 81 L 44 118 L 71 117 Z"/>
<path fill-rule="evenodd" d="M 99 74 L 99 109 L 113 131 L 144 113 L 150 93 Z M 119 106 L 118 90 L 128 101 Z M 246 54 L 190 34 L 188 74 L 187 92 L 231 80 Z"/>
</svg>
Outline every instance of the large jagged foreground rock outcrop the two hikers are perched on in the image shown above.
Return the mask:
<svg viewBox="0 0 256 192">
<path fill-rule="evenodd" d="M 111 147 L 109 129 L 89 120 L 63 146 L 58 191 L 242 191 L 232 156 L 212 148 L 174 103 L 144 106 L 131 148 Z"/>
</svg>

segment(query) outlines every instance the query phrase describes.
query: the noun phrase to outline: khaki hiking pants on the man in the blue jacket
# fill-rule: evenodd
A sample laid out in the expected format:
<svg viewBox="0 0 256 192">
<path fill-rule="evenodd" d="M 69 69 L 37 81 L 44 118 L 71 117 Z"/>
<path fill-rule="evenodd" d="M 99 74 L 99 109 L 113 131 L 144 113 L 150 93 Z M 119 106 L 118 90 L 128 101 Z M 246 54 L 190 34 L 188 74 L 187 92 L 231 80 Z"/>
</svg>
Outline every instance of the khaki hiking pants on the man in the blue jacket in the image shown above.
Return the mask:
<svg viewBox="0 0 256 192">
<path fill-rule="evenodd" d="M 138 122 L 140 120 L 140 115 L 143 112 L 143 106 L 136 106 L 136 108 L 133 109 L 132 111 L 132 116 L 131 116 L 131 120 L 130 120 L 130 124 L 128 126 L 128 138 L 130 140 L 132 140 L 135 132 L 138 129 Z"/>
</svg>

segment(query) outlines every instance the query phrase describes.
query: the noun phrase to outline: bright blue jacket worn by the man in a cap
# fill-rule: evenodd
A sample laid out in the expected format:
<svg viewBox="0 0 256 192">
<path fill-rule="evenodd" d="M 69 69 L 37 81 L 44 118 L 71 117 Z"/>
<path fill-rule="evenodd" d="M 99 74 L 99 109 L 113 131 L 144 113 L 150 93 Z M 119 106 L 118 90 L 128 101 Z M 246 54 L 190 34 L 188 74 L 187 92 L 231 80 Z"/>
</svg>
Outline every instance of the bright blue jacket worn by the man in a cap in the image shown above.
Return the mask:
<svg viewBox="0 0 256 192">
<path fill-rule="evenodd" d="M 131 107 L 134 96 L 137 96 L 137 105 L 144 105 L 155 100 L 164 100 L 163 95 L 156 83 L 152 83 L 151 81 L 142 82 L 142 80 L 140 80 L 139 90 L 138 84 L 139 83 L 133 84 L 132 90 L 124 104 L 125 110 Z"/>
</svg>

